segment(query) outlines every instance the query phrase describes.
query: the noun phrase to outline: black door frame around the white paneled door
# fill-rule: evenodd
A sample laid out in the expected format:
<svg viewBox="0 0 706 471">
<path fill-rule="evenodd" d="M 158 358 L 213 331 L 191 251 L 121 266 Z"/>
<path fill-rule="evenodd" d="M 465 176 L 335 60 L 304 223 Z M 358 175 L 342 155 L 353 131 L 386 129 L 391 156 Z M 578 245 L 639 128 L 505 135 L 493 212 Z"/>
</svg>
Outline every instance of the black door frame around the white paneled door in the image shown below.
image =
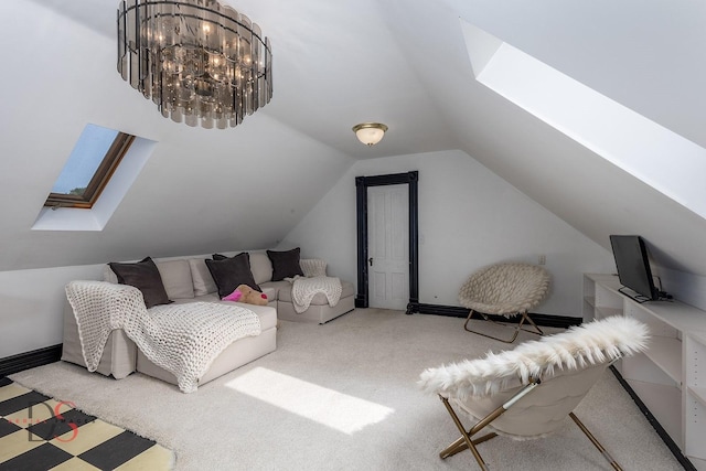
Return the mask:
<svg viewBox="0 0 706 471">
<path fill-rule="evenodd" d="M 386 175 L 355 178 L 355 216 L 357 232 L 357 293 L 356 308 L 368 306 L 368 271 L 367 271 L 367 188 L 383 185 L 409 185 L 409 302 L 407 313 L 419 304 L 419 193 L 417 170 L 406 173 L 391 173 Z"/>
</svg>

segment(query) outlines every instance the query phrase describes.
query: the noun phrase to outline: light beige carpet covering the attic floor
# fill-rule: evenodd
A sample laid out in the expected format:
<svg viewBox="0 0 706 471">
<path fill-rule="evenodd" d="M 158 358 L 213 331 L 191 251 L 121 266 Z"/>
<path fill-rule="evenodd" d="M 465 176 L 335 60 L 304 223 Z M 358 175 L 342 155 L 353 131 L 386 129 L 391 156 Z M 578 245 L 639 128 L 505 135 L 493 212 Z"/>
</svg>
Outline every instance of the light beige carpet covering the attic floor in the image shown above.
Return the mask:
<svg viewBox="0 0 706 471">
<path fill-rule="evenodd" d="M 462 324 L 374 309 L 325 325 L 282 321 L 276 352 L 193 394 L 62 362 L 11 377 L 171 448 L 180 470 L 468 470 L 468 451 L 438 458 L 459 433 L 415 384 L 426 367 L 505 346 Z M 682 469 L 612 373 L 576 413 L 625 470 Z M 496 470 L 610 469 L 568 419 L 550 438 L 480 449 Z"/>
</svg>

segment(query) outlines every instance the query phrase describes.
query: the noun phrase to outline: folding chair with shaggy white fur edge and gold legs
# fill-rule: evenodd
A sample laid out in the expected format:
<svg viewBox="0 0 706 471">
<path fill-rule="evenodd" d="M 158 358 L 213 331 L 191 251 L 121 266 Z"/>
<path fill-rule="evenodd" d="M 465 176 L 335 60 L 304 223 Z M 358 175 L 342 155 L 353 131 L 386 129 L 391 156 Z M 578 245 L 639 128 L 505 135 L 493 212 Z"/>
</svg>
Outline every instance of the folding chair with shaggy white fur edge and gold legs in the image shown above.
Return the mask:
<svg viewBox="0 0 706 471">
<path fill-rule="evenodd" d="M 511 351 L 425 371 L 420 387 L 439 395 L 462 435 L 439 456 L 443 459 L 470 449 L 485 470 L 477 445 L 498 435 L 542 438 L 563 427 L 569 416 L 620 470 L 573 410 L 612 362 L 644 350 L 648 340 L 645 324 L 617 315 L 521 343 Z M 474 421 L 470 429 L 457 410 Z M 482 430 L 490 432 L 477 437 Z"/>
</svg>

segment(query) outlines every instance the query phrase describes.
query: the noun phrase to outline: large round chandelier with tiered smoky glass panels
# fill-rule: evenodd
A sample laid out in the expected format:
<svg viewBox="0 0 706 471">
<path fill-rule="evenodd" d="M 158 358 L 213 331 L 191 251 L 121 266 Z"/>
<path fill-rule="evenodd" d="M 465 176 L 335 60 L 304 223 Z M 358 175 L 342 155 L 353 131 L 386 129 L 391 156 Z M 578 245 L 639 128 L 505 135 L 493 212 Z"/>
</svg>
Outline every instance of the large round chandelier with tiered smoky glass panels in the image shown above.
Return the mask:
<svg viewBox="0 0 706 471">
<path fill-rule="evenodd" d="M 165 118 L 225 129 L 272 97 L 272 53 L 257 24 L 215 0 L 122 0 L 118 72 Z"/>
</svg>

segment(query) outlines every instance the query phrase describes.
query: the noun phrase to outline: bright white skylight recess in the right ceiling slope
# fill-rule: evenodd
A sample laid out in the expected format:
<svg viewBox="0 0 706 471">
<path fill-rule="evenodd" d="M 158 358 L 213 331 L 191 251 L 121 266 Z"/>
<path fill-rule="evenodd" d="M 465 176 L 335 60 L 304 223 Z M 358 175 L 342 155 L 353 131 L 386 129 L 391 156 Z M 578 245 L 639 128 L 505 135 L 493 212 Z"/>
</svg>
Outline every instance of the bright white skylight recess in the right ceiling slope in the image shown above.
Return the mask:
<svg viewBox="0 0 706 471">
<path fill-rule="evenodd" d="M 704 148 L 463 20 L 461 30 L 478 82 L 706 217 Z"/>
</svg>

